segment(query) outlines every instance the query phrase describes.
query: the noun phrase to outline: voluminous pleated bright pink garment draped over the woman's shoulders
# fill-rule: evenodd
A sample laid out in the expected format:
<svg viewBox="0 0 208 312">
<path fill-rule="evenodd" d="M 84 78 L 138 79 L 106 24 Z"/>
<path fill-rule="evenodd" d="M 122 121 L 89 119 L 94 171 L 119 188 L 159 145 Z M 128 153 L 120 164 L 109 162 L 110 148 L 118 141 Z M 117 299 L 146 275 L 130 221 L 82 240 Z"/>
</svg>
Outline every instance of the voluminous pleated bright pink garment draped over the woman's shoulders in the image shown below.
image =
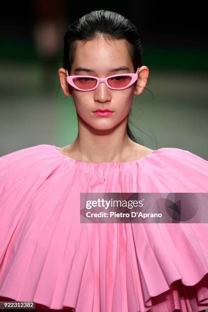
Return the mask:
<svg viewBox="0 0 208 312">
<path fill-rule="evenodd" d="M 208 224 L 80 223 L 80 192 L 208 192 L 206 160 L 165 147 L 96 164 L 41 144 L 0 170 L 0 296 L 77 312 L 208 308 Z"/>
</svg>

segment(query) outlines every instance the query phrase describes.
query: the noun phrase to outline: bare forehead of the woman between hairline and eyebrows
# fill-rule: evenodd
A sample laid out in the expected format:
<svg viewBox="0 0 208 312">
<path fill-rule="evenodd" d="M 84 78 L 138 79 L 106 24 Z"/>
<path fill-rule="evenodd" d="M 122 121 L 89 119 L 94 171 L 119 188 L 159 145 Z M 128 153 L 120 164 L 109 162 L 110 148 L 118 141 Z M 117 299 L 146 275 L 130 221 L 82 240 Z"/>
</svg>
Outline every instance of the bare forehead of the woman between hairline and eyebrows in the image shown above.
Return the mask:
<svg viewBox="0 0 208 312">
<path fill-rule="evenodd" d="M 72 67 L 131 66 L 132 60 L 125 39 L 108 39 L 99 36 L 90 41 L 76 40 Z"/>
</svg>

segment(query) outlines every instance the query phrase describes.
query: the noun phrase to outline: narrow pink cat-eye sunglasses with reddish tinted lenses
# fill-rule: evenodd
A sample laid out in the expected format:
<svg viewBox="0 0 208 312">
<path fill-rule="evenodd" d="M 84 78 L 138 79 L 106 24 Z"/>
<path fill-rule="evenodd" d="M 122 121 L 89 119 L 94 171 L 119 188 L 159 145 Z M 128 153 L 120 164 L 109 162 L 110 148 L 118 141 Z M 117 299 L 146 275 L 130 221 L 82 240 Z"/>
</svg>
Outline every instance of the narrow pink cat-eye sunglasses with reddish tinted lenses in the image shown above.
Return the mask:
<svg viewBox="0 0 208 312">
<path fill-rule="evenodd" d="M 81 76 L 71 75 L 69 76 L 68 70 L 66 70 L 66 81 L 69 85 L 77 90 L 90 91 L 96 89 L 101 82 L 104 82 L 110 89 L 122 90 L 128 88 L 134 84 L 138 79 L 139 67 L 136 73 L 118 74 L 105 78 L 99 78 L 94 76 Z"/>
</svg>

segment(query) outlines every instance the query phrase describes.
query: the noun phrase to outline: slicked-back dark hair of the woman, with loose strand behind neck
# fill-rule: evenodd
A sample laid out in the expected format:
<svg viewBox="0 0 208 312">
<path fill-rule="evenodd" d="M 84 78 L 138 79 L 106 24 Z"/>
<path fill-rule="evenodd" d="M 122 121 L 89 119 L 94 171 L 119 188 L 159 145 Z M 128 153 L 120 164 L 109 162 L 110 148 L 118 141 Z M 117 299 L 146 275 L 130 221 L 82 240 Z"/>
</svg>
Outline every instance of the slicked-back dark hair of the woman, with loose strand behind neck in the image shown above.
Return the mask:
<svg viewBox="0 0 208 312">
<path fill-rule="evenodd" d="M 142 48 L 136 26 L 124 16 L 103 9 L 92 11 L 67 26 L 67 31 L 64 36 L 63 67 L 68 69 L 69 73 L 74 60 L 76 48 L 75 40 L 89 41 L 95 39 L 99 35 L 103 35 L 104 38 L 108 39 L 126 39 L 135 72 L 138 66 L 142 66 Z M 131 110 L 129 113 L 131 113 Z M 135 138 L 129 128 L 129 122 L 128 115 L 128 122 L 126 125 L 128 137 L 134 142 L 143 143 L 141 139 L 137 140 Z"/>
</svg>

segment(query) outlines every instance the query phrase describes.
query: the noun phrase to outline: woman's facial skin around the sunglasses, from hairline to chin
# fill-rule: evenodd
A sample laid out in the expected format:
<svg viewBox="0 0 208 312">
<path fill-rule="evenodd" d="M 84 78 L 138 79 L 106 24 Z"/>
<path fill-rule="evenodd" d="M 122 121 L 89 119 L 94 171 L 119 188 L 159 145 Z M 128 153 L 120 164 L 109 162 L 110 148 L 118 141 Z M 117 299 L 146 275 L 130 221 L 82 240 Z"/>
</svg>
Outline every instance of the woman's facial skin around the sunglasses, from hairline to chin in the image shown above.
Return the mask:
<svg viewBox="0 0 208 312">
<path fill-rule="evenodd" d="M 112 68 L 122 66 L 128 67 L 129 70 L 110 72 Z M 77 72 L 75 71 L 77 67 L 88 68 L 92 71 Z M 77 41 L 70 75 L 90 75 L 102 78 L 123 73 L 135 73 L 124 39 L 109 41 L 98 37 L 87 42 Z M 135 84 L 123 90 L 113 90 L 105 83 L 100 83 L 91 91 L 80 91 L 71 87 L 78 118 L 97 130 L 115 127 L 127 117 L 131 109 L 134 88 Z M 99 108 L 109 109 L 114 113 L 109 116 L 96 116 L 93 111 Z"/>
</svg>

